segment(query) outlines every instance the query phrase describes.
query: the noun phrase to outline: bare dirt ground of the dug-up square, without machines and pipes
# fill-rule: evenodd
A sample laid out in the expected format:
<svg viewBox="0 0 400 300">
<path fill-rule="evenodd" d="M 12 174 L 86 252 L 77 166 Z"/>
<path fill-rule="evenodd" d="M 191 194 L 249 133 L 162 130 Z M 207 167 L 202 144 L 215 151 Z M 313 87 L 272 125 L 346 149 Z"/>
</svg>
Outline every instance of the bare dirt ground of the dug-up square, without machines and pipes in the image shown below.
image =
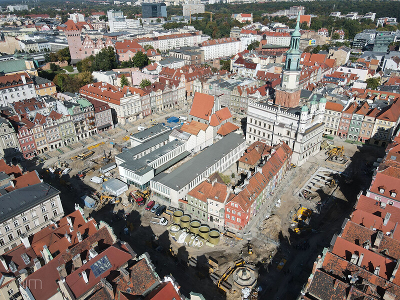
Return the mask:
<svg viewBox="0 0 400 300">
<path fill-rule="evenodd" d="M 175 113 L 176 114 L 176 113 Z M 159 116 L 159 119 L 165 115 Z M 135 124 L 136 125 L 136 124 Z M 134 131 L 134 126 L 128 128 L 128 134 Z M 95 154 L 90 157 L 93 160 L 101 157 L 103 152 L 112 156 L 117 150 L 112 147 L 109 141 L 118 144 L 126 143 L 122 137 L 126 135 L 126 129 L 115 128 L 108 131 L 108 134 L 101 134 L 102 139 L 98 138 L 90 144 L 105 141 L 105 144 L 93 149 Z M 109 135 L 109 136 L 108 136 Z M 108 139 L 109 137 L 109 139 Z M 221 238 L 220 243 L 214 247 L 204 246 L 201 249 L 185 247 L 174 241 L 166 231 L 166 227 L 150 223 L 153 214 L 144 210 L 144 206 L 137 207 L 135 204 L 123 206 L 122 204 L 106 204 L 99 210 L 84 209 L 85 213 L 90 214 L 96 221 L 105 221 L 112 226 L 114 233 L 121 240 L 126 240 L 138 255 L 147 251 L 160 276 L 171 274 L 181 285 L 181 291 L 188 296 L 190 291 L 200 292 L 208 299 L 240 299 L 240 290 L 233 285 L 232 290 L 225 296 L 217 290 L 216 285 L 208 275 L 207 259 L 209 256 L 218 261 L 218 268 L 215 272 L 221 275 L 229 266 L 233 266 L 233 261 L 243 258 L 253 263 L 253 267 L 258 275 L 257 286 L 261 287 L 260 298 L 267 299 L 293 299 L 295 298 L 302 285 L 306 282 L 311 271 L 312 263 L 316 256 L 321 253 L 323 247 L 329 246 L 329 241 L 334 233 L 340 230 L 340 224 L 344 217 L 347 217 L 352 205 L 355 202 L 359 190 L 365 190 L 370 182 L 370 173 L 364 171 L 365 165 L 375 161 L 377 157 L 384 154 L 383 148 L 370 145 L 356 145 L 344 142 L 335 138 L 334 143 L 338 146 L 344 145 L 345 154 L 349 156 L 346 165 L 338 165 L 325 161 L 324 151 L 320 151 L 316 156 L 310 157 L 306 163 L 291 169 L 271 195 L 274 203 L 271 207 L 261 207 L 257 214 L 250 220 L 247 228 L 241 232 L 242 240 L 231 240 Z M 70 157 L 77 155 L 89 145 L 77 145 L 73 150 L 68 150 L 63 154 L 54 151 L 54 155 L 45 160 L 44 163 L 26 163 L 28 169 L 37 169 L 53 165 L 58 160 L 66 161 L 72 171 L 65 176 L 70 181 L 73 190 L 69 191 L 59 181 L 59 178 L 50 178 L 43 173 L 44 180 L 61 190 L 61 201 L 65 214 L 73 210 L 74 203 L 79 202 L 80 196 L 90 190 L 99 190 L 101 185 L 89 181 L 89 178 L 98 174 L 98 168 L 103 163 L 70 160 Z M 58 153 L 57 153 L 58 152 Z M 59 156 L 59 158 L 57 157 Z M 327 186 L 321 189 L 317 198 L 305 200 L 300 198 L 297 193 L 300 187 L 306 182 L 315 170 L 323 166 L 338 171 L 335 178 L 338 185 L 334 188 Z M 79 170 L 88 170 L 85 178 L 79 179 L 75 174 Z M 118 177 L 117 169 L 112 176 Z M 234 168 L 226 171 L 231 174 Z M 345 176 L 344 176 L 345 175 Z M 239 177 L 235 173 L 235 180 Z M 351 178 L 351 183 L 345 183 L 344 178 Z M 132 190 L 133 188 L 130 188 Z M 127 192 L 127 193 L 128 193 Z M 321 204 L 317 204 L 320 202 Z M 291 216 L 300 205 L 312 208 L 315 212 L 311 216 L 312 231 L 297 235 L 289 229 Z M 265 205 L 264 205 L 265 206 Z M 131 212 L 126 220 L 116 217 L 113 211 L 124 210 Z M 124 234 L 124 227 L 129 225 L 129 234 Z M 253 253 L 247 254 L 247 240 L 253 246 Z M 171 248 L 171 251 L 169 250 Z M 242 254 L 241 254 L 242 253 Z M 197 259 L 197 266 L 188 266 L 190 257 Z M 278 267 L 278 265 L 282 267 Z M 231 284 L 232 276 L 227 280 Z M 279 283 L 277 283 L 279 282 Z M 287 286 L 291 288 L 288 289 Z"/>
</svg>

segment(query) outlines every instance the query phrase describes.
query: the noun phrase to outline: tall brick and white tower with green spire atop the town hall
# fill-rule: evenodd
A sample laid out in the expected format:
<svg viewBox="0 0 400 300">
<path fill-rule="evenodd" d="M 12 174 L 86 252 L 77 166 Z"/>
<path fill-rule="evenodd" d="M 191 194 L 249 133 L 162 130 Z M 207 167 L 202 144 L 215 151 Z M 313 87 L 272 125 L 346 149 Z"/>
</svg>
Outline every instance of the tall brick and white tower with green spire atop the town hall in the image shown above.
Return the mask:
<svg viewBox="0 0 400 300">
<path fill-rule="evenodd" d="M 286 51 L 286 61 L 282 69 L 280 85 L 276 88 L 275 104 L 284 107 L 296 107 L 300 103 L 300 12 L 297 16 L 296 27 L 291 33 L 290 48 Z"/>
</svg>

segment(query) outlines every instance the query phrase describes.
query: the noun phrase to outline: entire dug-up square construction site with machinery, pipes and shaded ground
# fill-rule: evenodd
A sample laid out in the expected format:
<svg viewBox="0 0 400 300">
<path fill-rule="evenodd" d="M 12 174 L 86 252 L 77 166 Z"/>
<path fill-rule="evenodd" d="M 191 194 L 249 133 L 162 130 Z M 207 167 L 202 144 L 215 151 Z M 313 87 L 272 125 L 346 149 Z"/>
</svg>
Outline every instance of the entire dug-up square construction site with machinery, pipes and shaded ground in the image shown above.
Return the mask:
<svg viewBox="0 0 400 300">
<path fill-rule="evenodd" d="M 187 286 L 206 299 L 294 298 L 318 250 L 329 245 L 349 213 L 355 191 L 368 185 L 364 172 L 372 171 L 382 156 L 373 146 L 365 151 L 340 139 L 334 145 L 322 143 L 316 156 L 301 166 L 291 165 L 270 195 L 272 205 L 262 206 L 246 228 L 232 232 L 176 207 L 160 214 L 148 208 L 154 200 L 152 205 L 158 204 L 150 189 L 138 190 L 118 179 L 114 156 L 130 142 L 126 132 L 113 130 L 115 137 L 104 136 L 47 159 L 41 175 L 62 191 L 65 211 L 80 199 L 87 215 L 109 223 L 135 251 L 158 257 L 154 264 L 161 274 L 171 273 L 183 291 Z"/>
</svg>

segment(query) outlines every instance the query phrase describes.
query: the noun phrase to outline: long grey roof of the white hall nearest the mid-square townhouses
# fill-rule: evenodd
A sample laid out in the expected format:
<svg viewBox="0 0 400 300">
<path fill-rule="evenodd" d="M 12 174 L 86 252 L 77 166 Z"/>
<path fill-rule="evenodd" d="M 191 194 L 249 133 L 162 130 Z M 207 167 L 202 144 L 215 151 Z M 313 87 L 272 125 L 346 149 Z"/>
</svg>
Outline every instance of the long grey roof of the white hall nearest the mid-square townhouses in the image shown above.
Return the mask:
<svg viewBox="0 0 400 300">
<path fill-rule="evenodd" d="M 230 149 L 236 148 L 239 144 L 245 142 L 244 138 L 234 132 L 229 133 L 216 143 L 202 150 L 196 156 L 183 163 L 170 173 L 159 173 L 152 181 L 159 182 L 174 190 L 179 190 L 189 184 L 199 174 L 213 165 L 215 161 L 222 159 L 230 152 Z"/>
</svg>

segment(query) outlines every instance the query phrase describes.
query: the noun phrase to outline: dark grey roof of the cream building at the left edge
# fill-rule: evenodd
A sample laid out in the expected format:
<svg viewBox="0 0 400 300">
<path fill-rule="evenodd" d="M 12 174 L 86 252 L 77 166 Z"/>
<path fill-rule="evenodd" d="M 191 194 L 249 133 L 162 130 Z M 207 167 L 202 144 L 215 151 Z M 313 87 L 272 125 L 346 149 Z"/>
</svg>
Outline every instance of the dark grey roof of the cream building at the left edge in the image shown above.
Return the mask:
<svg viewBox="0 0 400 300">
<path fill-rule="evenodd" d="M 59 193 L 59 190 L 45 182 L 10 191 L 0 196 L 0 222 L 4 222 Z"/>
</svg>

